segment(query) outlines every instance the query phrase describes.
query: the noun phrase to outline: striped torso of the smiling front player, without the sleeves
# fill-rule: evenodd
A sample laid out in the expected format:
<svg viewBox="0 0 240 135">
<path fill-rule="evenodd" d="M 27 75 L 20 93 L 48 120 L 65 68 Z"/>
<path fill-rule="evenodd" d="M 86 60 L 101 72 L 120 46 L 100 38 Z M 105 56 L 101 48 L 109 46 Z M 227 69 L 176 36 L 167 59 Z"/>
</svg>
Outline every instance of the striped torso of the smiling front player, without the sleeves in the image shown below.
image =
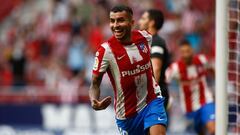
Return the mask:
<svg viewBox="0 0 240 135">
<path fill-rule="evenodd" d="M 108 75 L 115 92 L 118 118 L 134 115 L 155 98 L 150 51 L 147 40 L 135 39 L 129 45 L 109 41 L 112 60 Z"/>
</svg>

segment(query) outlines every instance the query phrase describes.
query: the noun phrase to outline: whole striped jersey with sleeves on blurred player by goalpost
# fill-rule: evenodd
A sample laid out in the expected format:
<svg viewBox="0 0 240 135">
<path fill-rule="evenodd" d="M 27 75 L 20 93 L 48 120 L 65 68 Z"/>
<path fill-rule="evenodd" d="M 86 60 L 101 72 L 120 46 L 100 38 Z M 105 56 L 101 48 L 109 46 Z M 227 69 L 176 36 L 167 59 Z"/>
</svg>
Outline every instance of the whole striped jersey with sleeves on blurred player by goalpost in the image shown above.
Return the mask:
<svg viewBox="0 0 240 135">
<path fill-rule="evenodd" d="M 191 65 L 182 60 L 171 64 L 166 70 L 166 81 L 177 79 L 180 85 L 180 99 L 185 112 L 193 112 L 206 103 L 213 102 L 212 93 L 206 81 L 207 70 L 210 68 L 205 55 L 194 56 Z"/>
</svg>

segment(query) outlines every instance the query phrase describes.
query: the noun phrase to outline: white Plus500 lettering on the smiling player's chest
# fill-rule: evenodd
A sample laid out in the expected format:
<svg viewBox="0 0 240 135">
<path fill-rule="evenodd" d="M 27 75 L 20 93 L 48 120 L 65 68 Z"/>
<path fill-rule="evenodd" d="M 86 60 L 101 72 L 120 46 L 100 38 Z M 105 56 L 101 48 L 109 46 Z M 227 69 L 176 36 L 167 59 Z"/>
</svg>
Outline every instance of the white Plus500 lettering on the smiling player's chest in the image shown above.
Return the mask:
<svg viewBox="0 0 240 135">
<path fill-rule="evenodd" d="M 126 71 L 122 71 L 122 77 L 126 77 L 126 76 L 132 76 L 132 75 L 136 75 L 138 73 L 144 72 L 147 69 L 149 69 L 151 67 L 151 63 L 148 62 L 145 65 L 137 65 L 137 67 L 133 70 L 126 70 Z"/>
</svg>

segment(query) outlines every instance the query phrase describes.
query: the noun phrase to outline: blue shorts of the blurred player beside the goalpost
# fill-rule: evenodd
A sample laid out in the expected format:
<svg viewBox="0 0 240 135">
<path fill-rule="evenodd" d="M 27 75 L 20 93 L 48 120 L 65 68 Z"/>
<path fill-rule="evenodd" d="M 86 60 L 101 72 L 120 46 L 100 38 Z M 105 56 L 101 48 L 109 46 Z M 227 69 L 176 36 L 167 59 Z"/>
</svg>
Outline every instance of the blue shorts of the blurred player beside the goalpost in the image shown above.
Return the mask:
<svg viewBox="0 0 240 135">
<path fill-rule="evenodd" d="M 187 118 L 194 120 L 194 129 L 197 132 L 200 132 L 201 128 L 203 128 L 209 121 L 215 120 L 215 104 L 205 104 L 197 111 L 187 113 Z"/>
</svg>

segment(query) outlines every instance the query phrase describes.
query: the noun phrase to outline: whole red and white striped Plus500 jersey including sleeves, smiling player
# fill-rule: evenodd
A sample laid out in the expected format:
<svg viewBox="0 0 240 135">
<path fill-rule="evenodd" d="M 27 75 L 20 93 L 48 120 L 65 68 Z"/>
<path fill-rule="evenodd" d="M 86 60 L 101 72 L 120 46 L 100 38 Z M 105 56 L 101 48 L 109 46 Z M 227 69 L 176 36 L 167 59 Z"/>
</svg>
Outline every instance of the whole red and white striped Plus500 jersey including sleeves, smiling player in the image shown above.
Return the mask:
<svg viewBox="0 0 240 135">
<path fill-rule="evenodd" d="M 132 43 L 123 45 L 112 37 L 96 52 L 93 74 L 107 72 L 114 89 L 114 107 L 118 119 L 141 111 L 156 98 L 160 87 L 152 75 L 150 45 L 146 31 L 132 31 Z M 155 90 L 155 91 L 154 91 Z"/>
</svg>

